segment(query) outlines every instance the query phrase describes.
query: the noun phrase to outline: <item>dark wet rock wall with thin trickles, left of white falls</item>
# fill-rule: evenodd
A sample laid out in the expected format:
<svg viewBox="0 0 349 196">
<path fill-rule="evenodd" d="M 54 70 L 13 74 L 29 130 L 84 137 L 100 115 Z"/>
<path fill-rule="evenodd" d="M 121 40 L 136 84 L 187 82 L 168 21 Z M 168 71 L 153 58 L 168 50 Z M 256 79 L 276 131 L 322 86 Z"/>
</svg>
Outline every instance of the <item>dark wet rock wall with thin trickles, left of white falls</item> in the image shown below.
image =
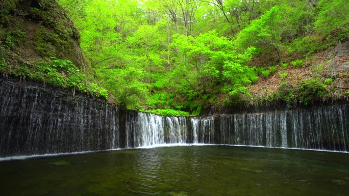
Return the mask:
<svg viewBox="0 0 349 196">
<path fill-rule="evenodd" d="M 0 157 L 118 148 L 118 109 L 86 95 L 0 79 Z"/>
</svg>

